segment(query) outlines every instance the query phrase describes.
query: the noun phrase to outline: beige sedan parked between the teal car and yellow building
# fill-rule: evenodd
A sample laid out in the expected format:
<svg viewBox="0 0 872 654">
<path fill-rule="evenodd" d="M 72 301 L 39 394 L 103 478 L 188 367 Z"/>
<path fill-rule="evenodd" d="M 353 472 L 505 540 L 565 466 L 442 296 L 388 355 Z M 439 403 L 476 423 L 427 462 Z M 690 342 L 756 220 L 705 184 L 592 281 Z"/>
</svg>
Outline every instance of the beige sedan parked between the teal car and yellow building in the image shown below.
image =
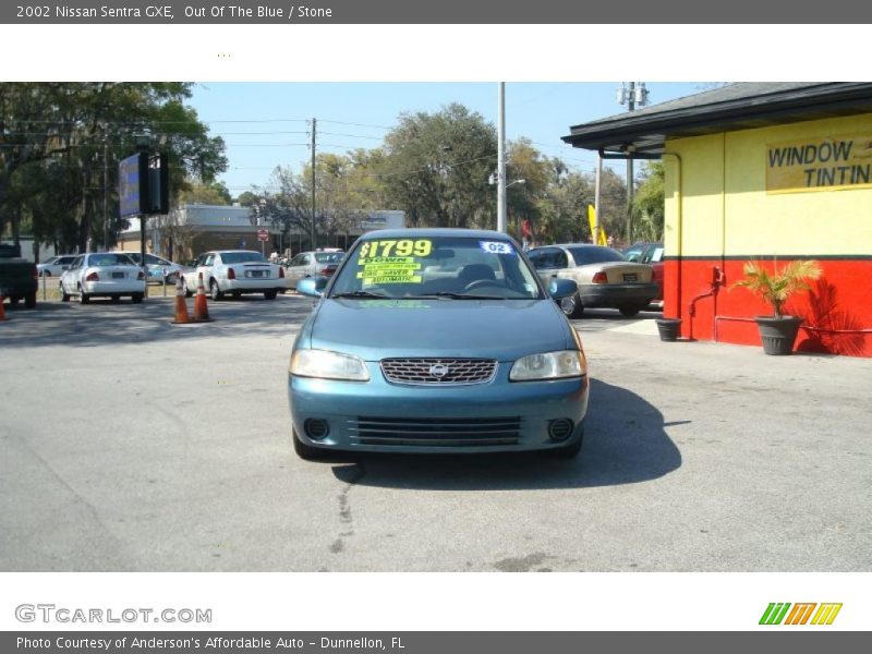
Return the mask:
<svg viewBox="0 0 872 654">
<path fill-rule="evenodd" d="M 654 269 L 628 262 L 617 250 L 589 243 L 535 247 L 528 252 L 543 281 L 571 279 L 578 291 L 560 301 L 564 313 L 577 318 L 584 307 L 611 307 L 634 316 L 657 295 Z"/>
</svg>

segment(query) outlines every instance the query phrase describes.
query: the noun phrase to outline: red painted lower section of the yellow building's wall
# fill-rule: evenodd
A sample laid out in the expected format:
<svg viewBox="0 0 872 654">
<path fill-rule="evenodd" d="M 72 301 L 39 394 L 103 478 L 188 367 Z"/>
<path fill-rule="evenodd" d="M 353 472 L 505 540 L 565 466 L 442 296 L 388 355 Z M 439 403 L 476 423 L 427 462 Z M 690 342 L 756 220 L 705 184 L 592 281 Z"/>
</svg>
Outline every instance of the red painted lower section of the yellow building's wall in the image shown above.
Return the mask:
<svg viewBox="0 0 872 654">
<path fill-rule="evenodd" d="M 779 259 L 778 266 L 785 263 Z M 827 259 L 820 265 L 823 276 L 812 282 L 811 291 L 785 307 L 804 319 L 795 350 L 872 356 L 872 262 Z M 748 289 L 734 288 L 743 277 L 743 266 L 742 261 L 720 258 L 667 261 L 664 316 L 682 319 L 683 338 L 760 346 L 753 317 L 771 315 L 772 310 Z M 719 281 L 715 269 L 723 271 Z"/>
</svg>

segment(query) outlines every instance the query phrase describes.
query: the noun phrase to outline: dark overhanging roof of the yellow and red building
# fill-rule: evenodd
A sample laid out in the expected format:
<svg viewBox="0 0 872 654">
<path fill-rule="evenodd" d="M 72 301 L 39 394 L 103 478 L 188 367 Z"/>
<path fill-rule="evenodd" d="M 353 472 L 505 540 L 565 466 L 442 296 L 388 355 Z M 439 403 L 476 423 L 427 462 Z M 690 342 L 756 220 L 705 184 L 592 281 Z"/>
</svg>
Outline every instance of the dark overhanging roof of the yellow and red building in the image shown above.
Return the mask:
<svg viewBox="0 0 872 654">
<path fill-rule="evenodd" d="M 747 82 L 570 128 L 562 140 L 608 157 L 657 158 L 667 140 L 872 112 L 868 82 Z"/>
</svg>

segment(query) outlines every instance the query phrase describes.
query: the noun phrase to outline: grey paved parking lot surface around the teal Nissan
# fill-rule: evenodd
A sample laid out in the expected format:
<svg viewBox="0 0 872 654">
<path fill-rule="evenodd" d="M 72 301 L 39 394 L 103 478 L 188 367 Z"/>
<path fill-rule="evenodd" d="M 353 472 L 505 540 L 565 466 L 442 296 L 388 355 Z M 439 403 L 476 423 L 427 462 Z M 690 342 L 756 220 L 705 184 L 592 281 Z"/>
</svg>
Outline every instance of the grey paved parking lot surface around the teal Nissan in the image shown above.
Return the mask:
<svg viewBox="0 0 872 654">
<path fill-rule="evenodd" d="M 573 324 L 582 455 L 304 462 L 313 305 L 39 302 L 0 323 L 3 571 L 865 571 L 872 361 Z M 495 326 L 497 328 L 498 326 Z"/>
</svg>

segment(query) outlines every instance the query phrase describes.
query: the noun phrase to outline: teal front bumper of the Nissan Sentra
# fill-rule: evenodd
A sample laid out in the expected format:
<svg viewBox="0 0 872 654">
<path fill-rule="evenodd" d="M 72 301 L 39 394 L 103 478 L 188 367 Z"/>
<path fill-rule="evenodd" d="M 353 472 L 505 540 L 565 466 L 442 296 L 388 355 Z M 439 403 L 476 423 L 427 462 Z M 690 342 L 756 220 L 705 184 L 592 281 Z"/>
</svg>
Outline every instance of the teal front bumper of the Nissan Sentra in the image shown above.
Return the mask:
<svg viewBox="0 0 872 654">
<path fill-rule="evenodd" d="M 486 384 L 434 387 L 388 383 L 377 362 L 370 382 L 288 375 L 291 421 L 313 447 L 375 452 L 498 452 L 556 449 L 583 435 L 588 377 L 508 380 L 501 363 Z M 313 438 L 313 426 L 316 435 Z M 549 429 L 564 435 L 560 440 Z"/>
</svg>

